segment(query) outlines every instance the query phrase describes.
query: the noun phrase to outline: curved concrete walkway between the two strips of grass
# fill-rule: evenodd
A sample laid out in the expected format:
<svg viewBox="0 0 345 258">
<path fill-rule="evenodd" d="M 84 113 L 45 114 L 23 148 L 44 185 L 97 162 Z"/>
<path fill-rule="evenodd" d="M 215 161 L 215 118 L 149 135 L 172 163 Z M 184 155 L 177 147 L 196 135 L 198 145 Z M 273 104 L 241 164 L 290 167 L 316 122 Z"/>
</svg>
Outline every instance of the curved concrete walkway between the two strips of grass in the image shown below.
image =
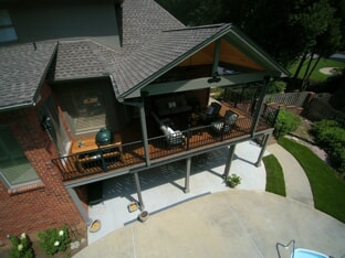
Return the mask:
<svg viewBox="0 0 345 258">
<path fill-rule="evenodd" d="M 300 163 L 278 143 L 268 146 L 266 150 L 274 154 L 283 169 L 286 197 L 314 207 L 311 185 Z"/>
</svg>

